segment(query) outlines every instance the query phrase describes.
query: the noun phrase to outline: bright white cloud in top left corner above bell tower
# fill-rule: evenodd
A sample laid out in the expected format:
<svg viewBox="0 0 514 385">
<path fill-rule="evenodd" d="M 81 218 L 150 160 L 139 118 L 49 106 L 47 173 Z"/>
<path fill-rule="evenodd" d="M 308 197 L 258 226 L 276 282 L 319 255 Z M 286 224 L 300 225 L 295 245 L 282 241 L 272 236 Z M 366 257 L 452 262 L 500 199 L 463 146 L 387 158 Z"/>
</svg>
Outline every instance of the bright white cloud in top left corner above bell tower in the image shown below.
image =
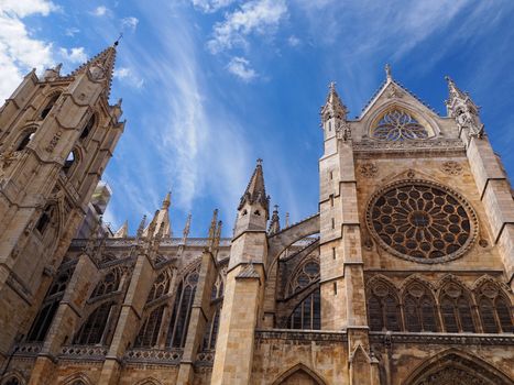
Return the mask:
<svg viewBox="0 0 514 385">
<path fill-rule="evenodd" d="M 22 18 L 57 10 L 51 1 L 4 0 L 0 7 L 0 99 L 11 95 L 31 68 L 42 70 L 51 66 L 52 44 L 32 38 Z"/>
</svg>

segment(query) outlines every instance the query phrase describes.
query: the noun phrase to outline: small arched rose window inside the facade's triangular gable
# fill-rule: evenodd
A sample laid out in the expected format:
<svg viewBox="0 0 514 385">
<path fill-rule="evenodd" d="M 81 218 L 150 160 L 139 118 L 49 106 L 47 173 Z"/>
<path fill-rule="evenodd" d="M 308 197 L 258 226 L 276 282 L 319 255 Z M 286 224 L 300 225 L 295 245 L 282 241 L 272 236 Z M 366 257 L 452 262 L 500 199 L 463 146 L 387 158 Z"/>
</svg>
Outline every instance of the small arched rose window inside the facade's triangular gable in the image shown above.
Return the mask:
<svg viewBox="0 0 514 385">
<path fill-rule="evenodd" d="M 401 110 L 386 112 L 372 133 L 372 138 L 382 141 L 419 140 L 428 136 L 428 131 L 416 119 Z"/>
</svg>

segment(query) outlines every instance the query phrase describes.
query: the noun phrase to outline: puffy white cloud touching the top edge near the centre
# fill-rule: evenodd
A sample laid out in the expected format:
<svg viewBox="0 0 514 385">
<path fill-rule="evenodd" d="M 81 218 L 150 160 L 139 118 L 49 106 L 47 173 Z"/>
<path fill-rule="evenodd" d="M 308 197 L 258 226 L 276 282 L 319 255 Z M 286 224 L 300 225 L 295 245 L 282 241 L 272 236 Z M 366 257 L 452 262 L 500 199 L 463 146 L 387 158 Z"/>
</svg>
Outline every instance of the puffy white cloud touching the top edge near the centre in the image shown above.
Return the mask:
<svg viewBox="0 0 514 385">
<path fill-rule="evenodd" d="M 272 34 L 282 19 L 287 15 L 284 0 L 252 0 L 214 26 L 212 38 L 207 42 L 211 53 L 247 45 L 247 36 L 253 33 Z"/>
</svg>

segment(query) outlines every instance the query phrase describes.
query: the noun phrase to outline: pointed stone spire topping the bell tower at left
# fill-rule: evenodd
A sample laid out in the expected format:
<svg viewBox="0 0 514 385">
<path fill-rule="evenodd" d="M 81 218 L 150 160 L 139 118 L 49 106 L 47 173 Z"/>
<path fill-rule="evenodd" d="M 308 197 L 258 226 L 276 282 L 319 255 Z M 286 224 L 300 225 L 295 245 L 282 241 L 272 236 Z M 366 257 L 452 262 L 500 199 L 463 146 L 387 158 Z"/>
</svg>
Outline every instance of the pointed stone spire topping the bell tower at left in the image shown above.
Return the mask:
<svg viewBox="0 0 514 385">
<path fill-rule="evenodd" d="M 96 81 L 102 81 L 105 87 L 105 95 L 109 99 L 112 85 L 112 76 L 114 73 L 114 62 L 116 62 L 116 48 L 118 46 L 118 41 L 114 44 L 108 46 L 106 50 L 100 52 L 98 55 L 90 58 L 88 62 L 80 65 L 75 69 L 70 75 L 77 76 L 80 74 L 86 74 L 95 79 Z"/>
</svg>

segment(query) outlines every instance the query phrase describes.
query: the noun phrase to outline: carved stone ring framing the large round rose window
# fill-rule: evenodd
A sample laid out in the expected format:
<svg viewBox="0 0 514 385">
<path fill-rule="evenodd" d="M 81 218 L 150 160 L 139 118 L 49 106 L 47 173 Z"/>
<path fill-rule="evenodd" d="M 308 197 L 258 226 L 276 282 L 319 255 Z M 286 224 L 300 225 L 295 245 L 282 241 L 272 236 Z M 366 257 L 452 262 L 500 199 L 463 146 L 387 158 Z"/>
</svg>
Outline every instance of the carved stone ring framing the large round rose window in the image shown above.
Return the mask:
<svg viewBox="0 0 514 385">
<path fill-rule="evenodd" d="M 449 196 L 451 196 L 453 199 L 456 199 L 459 202 L 459 205 L 464 209 L 464 211 L 466 211 L 466 213 L 468 215 L 468 218 L 469 218 L 470 231 L 469 231 L 469 237 L 466 240 L 464 244 L 461 248 L 459 248 L 457 251 L 455 251 L 455 252 L 452 252 L 450 254 L 446 254 L 444 256 L 434 257 L 434 258 L 412 256 L 412 255 L 404 254 L 404 253 L 395 250 L 393 246 L 390 246 L 387 243 L 385 243 L 380 238 L 379 233 L 375 231 L 375 229 L 373 227 L 372 209 L 375 206 L 376 201 L 382 196 L 384 196 L 385 194 L 391 191 L 393 188 L 398 188 L 398 187 L 403 187 L 403 186 L 416 186 L 416 185 L 417 186 L 420 185 L 420 186 L 424 186 L 424 187 L 440 189 L 440 190 L 445 191 L 446 194 L 448 194 Z M 461 257 L 463 254 L 466 254 L 472 248 L 472 245 L 474 244 L 474 242 L 475 242 L 475 240 L 478 238 L 478 234 L 479 234 L 479 222 L 478 222 L 477 212 L 474 211 L 472 206 L 468 202 L 468 200 L 461 194 L 457 193 L 456 190 L 453 190 L 453 189 L 451 189 L 451 188 L 449 188 L 449 187 L 447 187 L 445 185 L 441 185 L 441 184 L 438 184 L 438 183 L 435 183 L 435 182 L 430 182 L 430 180 L 424 180 L 424 179 L 397 180 L 397 182 L 387 184 L 384 187 L 376 190 L 368 201 L 367 210 L 365 210 L 365 223 L 367 223 L 368 231 L 370 232 L 371 237 L 387 253 L 390 253 L 390 254 L 392 254 L 394 256 L 397 256 L 397 257 L 400 257 L 402 260 L 417 262 L 417 263 L 424 263 L 424 264 L 445 263 L 445 262 L 455 261 L 455 260 Z"/>
</svg>

